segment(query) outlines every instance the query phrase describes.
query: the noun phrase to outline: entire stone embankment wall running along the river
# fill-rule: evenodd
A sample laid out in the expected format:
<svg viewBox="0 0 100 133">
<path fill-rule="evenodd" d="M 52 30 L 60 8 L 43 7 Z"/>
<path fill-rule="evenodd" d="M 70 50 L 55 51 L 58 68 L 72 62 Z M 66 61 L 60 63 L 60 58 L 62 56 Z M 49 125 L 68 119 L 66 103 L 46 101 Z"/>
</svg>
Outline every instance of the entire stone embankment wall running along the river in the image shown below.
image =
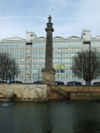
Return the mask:
<svg viewBox="0 0 100 133">
<path fill-rule="evenodd" d="M 57 86 L 34 84 L 0 84 L 0 99 L 18 101 L 100 100 L 99 86 Z"/>
</svg>

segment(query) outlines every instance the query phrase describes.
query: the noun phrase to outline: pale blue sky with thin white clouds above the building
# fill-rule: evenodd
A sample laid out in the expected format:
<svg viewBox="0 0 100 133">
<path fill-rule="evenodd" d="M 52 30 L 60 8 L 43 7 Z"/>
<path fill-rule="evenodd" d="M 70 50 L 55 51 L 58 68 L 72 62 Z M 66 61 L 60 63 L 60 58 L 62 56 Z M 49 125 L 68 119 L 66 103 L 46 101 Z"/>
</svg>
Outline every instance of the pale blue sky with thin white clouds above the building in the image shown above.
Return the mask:
<svg viewBox="0 0 100 133">
<path fill-rule="evenodd" d="M 100 35 L 100 0 L 0 0 L 0 39 L 35 32 L 45 36 L 49 14 L 54 36 Z"/>
</svg>

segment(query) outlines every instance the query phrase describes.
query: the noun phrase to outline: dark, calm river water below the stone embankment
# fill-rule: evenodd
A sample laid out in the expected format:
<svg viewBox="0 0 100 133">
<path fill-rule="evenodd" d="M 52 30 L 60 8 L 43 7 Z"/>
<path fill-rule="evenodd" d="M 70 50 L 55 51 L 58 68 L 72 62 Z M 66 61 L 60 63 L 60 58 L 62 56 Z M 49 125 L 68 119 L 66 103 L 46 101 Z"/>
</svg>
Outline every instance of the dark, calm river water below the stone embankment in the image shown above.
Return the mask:
<svg viewBox="0 0 100 133">
<path fill-rule="evenodd" d="M 0 103 L 0 133 L 100 133 L 100 103 Z"/>
</svg>

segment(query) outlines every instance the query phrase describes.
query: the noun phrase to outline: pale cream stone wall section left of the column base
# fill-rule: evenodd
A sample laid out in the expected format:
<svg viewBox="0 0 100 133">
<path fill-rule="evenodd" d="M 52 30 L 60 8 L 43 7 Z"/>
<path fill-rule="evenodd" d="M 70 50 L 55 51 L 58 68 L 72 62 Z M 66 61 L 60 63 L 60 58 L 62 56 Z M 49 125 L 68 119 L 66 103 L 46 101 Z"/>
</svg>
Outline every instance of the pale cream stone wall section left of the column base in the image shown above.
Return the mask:
<svg viewBox="0 0 100 133">
<path fill-rule="evenodd" d="M 45 99 L 47 98 L 47 85 L 33 84 L 0 84 L 1 97 L 15 95 L 18 99 Z"/>
</svg>

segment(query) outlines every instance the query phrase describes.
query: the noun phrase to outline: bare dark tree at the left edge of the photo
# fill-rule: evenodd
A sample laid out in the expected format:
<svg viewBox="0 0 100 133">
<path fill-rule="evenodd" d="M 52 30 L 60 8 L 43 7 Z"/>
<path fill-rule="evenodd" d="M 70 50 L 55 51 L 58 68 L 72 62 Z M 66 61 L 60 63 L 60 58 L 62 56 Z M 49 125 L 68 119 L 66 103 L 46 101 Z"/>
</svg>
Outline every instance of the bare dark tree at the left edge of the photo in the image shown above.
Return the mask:
<svg viewBox="0 0 100 133">
<path fill-rule="evenodd" d="M 18 66 L 15 59 L 11 58 L 8 53 L 0 53 L 0 79 L 3 81 L 14 81 L 18 75 Z"/>
</svg>

